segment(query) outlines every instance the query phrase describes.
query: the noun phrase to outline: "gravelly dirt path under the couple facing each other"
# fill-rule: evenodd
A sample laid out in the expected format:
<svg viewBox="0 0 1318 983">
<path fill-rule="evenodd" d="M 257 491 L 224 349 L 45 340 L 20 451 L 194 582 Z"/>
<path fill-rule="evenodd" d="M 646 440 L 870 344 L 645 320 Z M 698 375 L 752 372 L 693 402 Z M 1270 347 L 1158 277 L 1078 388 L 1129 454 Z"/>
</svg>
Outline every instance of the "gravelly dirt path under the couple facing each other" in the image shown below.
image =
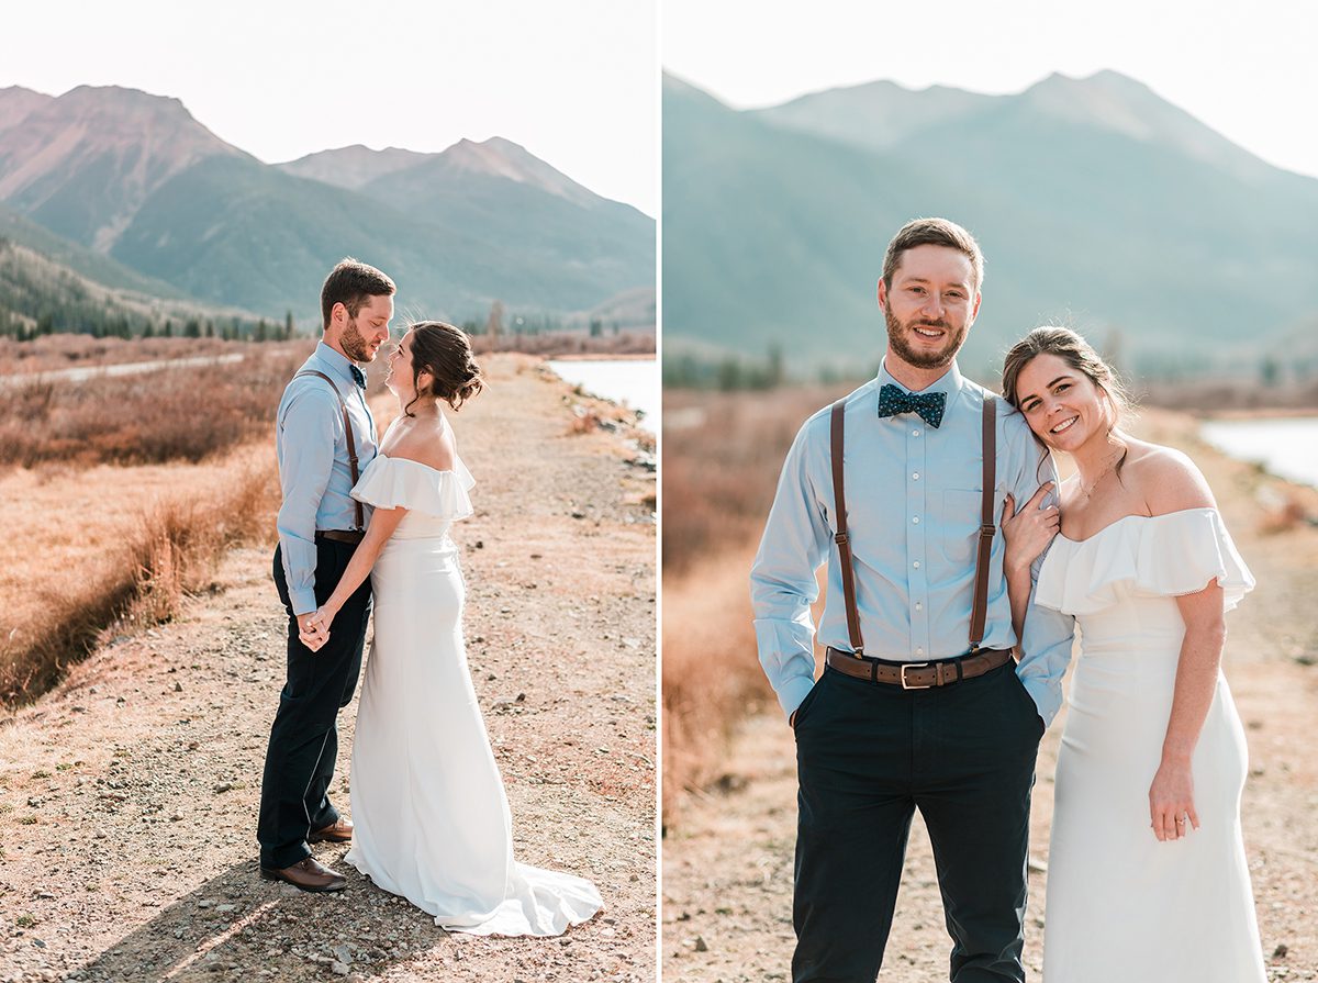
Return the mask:
<svg viewBox="0 0 1318 983">
<path fill-rule="evenodd" d="M 0 980 L 654 979 L 654 477 L 617 435 L 569 432 L 580 402 L 532 360 L 493 358 L 453 420 L 477 478 L 453 535 L 515 853 L 593 879 L 600 917 L 482 940 L 343 864 L 335 896 L 257 878 L 285 618 L 269 551 L 245 549 L 183 618 L 116 639 L 0 727 Z"/>
</svg>

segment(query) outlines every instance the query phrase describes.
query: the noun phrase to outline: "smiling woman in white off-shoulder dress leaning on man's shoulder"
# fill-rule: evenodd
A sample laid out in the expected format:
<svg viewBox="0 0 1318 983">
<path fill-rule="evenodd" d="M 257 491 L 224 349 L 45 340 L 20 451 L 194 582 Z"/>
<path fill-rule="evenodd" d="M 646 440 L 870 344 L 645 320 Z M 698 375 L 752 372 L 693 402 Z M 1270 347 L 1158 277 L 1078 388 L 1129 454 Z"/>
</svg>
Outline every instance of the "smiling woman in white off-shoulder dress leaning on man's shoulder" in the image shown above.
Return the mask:
<svg viewBox="0 0 1318 983">
<path fill-rule="evenodd" d="M 1240 835 L 1244 730 L 1220 671 L 1223 614 L 1253 577 L 1198 468 L 1119 430 L 1120 387 L 1082 337 L 1032 331 L 1007 353 L 1003 395 L 1077 466 L 1060 517 L 1014 515 L 1010 501 L 1003 514 L 1017 638 L 1049 542 L 1035 604 L 1073 614 L 1082 635 L 1057 755 L 1044 979 L 1263 983 Z"/>
</svg>

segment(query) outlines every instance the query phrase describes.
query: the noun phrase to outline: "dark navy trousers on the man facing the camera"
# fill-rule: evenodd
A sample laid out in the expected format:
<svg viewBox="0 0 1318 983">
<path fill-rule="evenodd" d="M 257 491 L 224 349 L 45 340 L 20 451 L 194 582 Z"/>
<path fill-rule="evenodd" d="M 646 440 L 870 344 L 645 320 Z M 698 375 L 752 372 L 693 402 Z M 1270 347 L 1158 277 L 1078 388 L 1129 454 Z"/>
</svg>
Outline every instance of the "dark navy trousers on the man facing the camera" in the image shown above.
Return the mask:
<svg viewBox="0 0 1318 983">
<path fill-rule="evenodd" d="M 1020 983 L 1044 723 L 1008 660 L 903 690 L 825 669 L 796 716 L 793 983 L 874 983 L 911 818 L 929 830 L 953 983 Z"/>
</svg>

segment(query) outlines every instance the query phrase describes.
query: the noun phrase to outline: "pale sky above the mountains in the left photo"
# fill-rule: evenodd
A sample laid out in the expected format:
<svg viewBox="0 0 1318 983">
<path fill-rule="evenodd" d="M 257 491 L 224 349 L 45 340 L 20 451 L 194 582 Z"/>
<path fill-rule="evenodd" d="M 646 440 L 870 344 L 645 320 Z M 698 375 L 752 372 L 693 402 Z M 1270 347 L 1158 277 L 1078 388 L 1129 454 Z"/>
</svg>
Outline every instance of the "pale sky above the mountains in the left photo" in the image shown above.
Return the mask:
<svg viewBox="0 0 1318 983">
<path fill-rule="evenodd" d="M 177 96 L 268 163 L 506 137 L 658 210 L 656 0 L 8 4 L 0 87 Z"/>
</svg>

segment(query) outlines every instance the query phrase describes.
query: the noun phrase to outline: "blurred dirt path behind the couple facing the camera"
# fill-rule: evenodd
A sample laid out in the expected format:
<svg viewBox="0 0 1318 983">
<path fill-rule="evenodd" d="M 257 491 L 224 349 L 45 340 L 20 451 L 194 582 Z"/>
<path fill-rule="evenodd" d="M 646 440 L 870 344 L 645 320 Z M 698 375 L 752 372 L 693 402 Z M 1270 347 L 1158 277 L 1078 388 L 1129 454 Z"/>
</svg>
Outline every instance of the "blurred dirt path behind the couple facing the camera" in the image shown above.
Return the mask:
<svg viewBox="0 0 1318 983">
<path fill-rule="evenodd" d="M 1318 760 L 1311 754 L 1318 708 L 1318 623 L 1311 600 L 1318 589 L 1318 530 L 1260 532 L 1259 492 L 1276 482 L 1260 478 L 1248 465 L 1188 445 L 1184 432 L 1155 428 L 1148 436 L 1191 449 L 1259 581 L 1259 589 L 1228 617 L 1226 659 L 1249 742 L 1246 849 L 1269 979 L 1318 979 Z M 745 590 L 745 564 L 737 576 Z M 754 651 L 745 658 L 754 661 Z M 1064 719 L 1044 739 L 1033 797 L 1025 922 L 1025 965 L 1033 979 L 1043 962 L 1044 864 Z M 680 825 L 663 842 L 666 983 L 789 979 L 795 841 L 792 735 L 776 713 L 755 716 L 738 731 L 724 779 L 714 789 L 683 800 Z M 949 949 L 928 835 L 916 818 L 879 979 L 946 979 Z"/>
</svg>

